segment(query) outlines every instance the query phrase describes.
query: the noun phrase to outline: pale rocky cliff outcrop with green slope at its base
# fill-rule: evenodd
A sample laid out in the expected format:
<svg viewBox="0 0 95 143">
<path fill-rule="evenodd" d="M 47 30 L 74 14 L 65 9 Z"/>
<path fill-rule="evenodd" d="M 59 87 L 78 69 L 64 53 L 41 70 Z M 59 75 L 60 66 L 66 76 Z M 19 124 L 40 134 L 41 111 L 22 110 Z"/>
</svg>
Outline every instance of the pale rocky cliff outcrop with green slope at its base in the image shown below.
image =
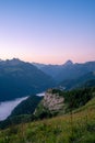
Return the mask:
<svg viewBox="0 0 95 143">
<path fill-rule="evenodd" d="M 55 90 L 55 91 L 54 91 Z M 40 117 L 40 114 L 49 117 L 55 113 L 63 112 L 64 98 L 60 96 L 56 89 L 49 89 L 46 91 L 44 99 L 40 101 L 36 108 L 34 114 Z"/>
</svg>

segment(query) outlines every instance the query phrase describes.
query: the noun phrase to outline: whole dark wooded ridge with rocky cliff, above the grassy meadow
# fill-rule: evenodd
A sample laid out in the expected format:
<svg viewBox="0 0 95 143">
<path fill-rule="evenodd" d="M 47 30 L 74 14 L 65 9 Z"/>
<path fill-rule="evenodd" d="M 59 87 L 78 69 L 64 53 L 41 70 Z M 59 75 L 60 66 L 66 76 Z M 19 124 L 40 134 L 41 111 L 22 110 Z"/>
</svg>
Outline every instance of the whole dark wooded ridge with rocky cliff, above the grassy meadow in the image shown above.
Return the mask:
<svg viewBox="0 0 95 143">
<path fill-rule="evenodd" d="M 70 91 L 48 89 L 44 98 L 32 96 L 22 101 L 7 120 L 0 122 L 0 128 L 66 114 L 83 107 L 94 97 L 95 87 Z"/>
</svg>

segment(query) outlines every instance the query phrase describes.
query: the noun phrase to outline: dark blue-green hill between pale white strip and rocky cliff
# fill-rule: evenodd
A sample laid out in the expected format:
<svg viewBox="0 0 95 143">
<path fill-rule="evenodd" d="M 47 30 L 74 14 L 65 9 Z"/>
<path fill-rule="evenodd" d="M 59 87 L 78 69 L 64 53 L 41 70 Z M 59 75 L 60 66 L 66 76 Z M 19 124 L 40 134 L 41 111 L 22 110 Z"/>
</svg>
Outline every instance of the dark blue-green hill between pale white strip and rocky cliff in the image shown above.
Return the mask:
<svg viewBox="0 0 95 143">
<path fill-rule="evenodd" d="M 4 129 L 11 124 L 19 124 L 22 122 L 29 122 L 34 120 L 34 111 L 43 97 L 31 96 L 26 100 L 17 105 L 5 120 L 0 121 L 0 128 Z"/>
</svg>

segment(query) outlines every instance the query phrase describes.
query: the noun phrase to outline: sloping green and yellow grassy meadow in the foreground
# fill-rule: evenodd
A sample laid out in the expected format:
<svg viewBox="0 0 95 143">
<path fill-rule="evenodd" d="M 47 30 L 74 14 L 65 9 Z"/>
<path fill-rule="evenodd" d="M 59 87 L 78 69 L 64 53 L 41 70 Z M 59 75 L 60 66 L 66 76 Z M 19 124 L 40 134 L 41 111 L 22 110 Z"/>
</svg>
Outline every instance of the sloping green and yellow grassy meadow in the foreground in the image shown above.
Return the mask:
<svg viewBox="0 0 95 143">
<path fill-rule="evenodd" d="M 72 114 L 0 131 L 0 143 L 95 143 L 95 98 Z"/>
</svg>

